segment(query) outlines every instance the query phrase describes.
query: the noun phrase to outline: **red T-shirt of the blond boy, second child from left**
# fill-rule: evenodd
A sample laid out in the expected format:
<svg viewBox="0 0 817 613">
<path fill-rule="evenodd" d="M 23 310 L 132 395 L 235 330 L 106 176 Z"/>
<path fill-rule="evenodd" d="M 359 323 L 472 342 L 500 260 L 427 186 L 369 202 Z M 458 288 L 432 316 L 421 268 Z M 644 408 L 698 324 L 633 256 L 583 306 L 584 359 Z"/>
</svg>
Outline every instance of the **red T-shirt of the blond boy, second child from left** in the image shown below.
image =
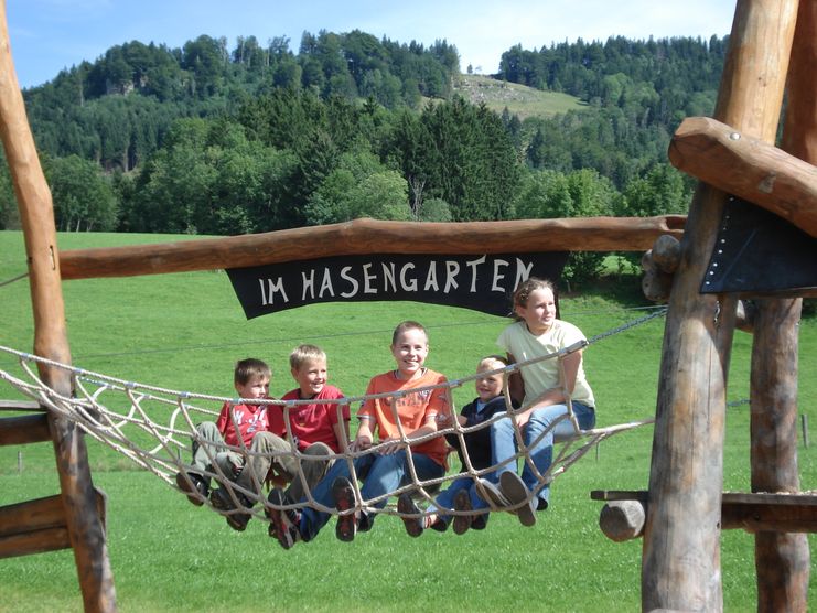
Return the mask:
<svg viewBox="0 0 817 613">
<path fill-rule="evenodd" d="M 338 423 L 340 407 L 343 421 L 350 420 L 348 405 L 321 402 L 343 398 L 343 392 L 334 386 L 325 385 L 312 398 L 301 398 L 301 390 L 293 389 L 283 395 L 281 400 L 313 400 L 308 405 L 298 405 L 289 409 L 289 422 L 292 435 L 298 440 L 298 449 L 303 451 L 312 443 L 326 443 L 335 453 L 341 452 L 341 441 L 335 437 L 334 427 Z M 283 423 L 283 407 L 270 407 L 270 431 L 281 438 L 287 437 Z"/>
</svg>

